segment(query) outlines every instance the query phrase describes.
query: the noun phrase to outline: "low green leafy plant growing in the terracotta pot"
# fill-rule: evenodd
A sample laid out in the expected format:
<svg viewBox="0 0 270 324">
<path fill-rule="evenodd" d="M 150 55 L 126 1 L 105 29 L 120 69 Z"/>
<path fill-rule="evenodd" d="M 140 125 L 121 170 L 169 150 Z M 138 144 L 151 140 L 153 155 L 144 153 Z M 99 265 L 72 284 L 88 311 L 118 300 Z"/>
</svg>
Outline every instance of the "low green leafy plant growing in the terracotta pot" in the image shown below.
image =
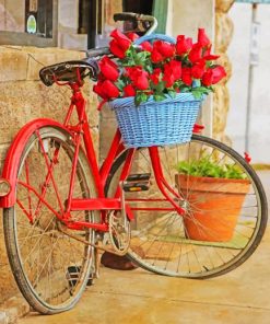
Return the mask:
<svg viewBox="0 0 270 324">
<path fill-rule="evenodd" d="M 176 169 L 180 174 L 193 176 L 222 177 L 222 178 L 246 178 L 239 166 L 235 164 L 219 164 L 214 158 L 204 155 L 199 160 L 180 161 Z"/>
</svg>

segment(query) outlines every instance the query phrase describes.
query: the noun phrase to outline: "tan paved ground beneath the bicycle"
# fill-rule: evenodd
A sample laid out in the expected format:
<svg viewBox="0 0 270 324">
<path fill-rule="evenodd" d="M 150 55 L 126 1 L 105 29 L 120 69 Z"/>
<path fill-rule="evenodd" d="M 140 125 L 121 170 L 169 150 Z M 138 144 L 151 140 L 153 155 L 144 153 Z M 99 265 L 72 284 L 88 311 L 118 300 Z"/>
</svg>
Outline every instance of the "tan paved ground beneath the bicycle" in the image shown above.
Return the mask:
<svg viewBox="0 0 270 324">
<path fill-rule="evenodd" d="M 270 173 L 265 172 L 262 181 L 270 194 Z M 215 279 L 102 268 L 101 279 L 72 311 L 54 316 L 31 314 L 20 324 L 269 324 L 269 259 L 270 227 L 244 265 Z"/>
</svg>

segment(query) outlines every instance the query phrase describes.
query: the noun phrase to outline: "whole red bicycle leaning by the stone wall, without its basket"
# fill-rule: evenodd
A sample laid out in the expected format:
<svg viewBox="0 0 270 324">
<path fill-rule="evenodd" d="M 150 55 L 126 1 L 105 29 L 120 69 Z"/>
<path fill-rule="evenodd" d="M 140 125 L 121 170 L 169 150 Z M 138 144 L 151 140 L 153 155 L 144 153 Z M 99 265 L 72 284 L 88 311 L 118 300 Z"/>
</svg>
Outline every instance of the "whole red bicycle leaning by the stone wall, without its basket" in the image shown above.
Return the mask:
<svg viewBox="0 0 270 324">
<path fill-rule="evenodd" d="M 130 14 L 121 18 L 134 20 Z M 153 25 L 152 18 L 136 19 Z M 3 166 L 0 206 L 10 265 L 25 299 L 44 314 L 69 310 L 79 301 L 97 275 L 98 248 L 128 253 L 134 263 L 157 274 L 210 278 L 244 263 L 267 224 L 266 195 L 248 162 L 198 134 L 186 143 L 126 149 L 116 130 L 98 166 L 81 89 L 83 79 L 96 79 L 96 59 L 106 53 L 94 49 L 89 59 L 40 70 L 46 85 L 70 86 L 66 119 L 61 124 L 39 118 L 25 125 Z M 176 182 L 179 161 L 196 162 L 206 154 L 220 166 L 236 166 L 248 183 L 233 238 L 225 241 L 195 215 L 211 216 L 212 222 L 226 228 L 223 217 L 234 207 L 208 206 L 212 188 L 198 195 L 189 172 L 185 188 Z M 188 221 L 212 239 L 190 236 Z"/>
</svg>

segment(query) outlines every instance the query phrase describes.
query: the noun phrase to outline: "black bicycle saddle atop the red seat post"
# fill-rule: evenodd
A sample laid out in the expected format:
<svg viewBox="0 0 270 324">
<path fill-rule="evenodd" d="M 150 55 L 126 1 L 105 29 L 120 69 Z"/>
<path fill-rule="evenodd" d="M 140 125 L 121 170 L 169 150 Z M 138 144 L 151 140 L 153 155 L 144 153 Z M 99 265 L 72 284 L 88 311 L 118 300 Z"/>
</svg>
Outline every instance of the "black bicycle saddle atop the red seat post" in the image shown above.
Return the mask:
<svg viewBox="0 0 270 324">
<path fill-rule="evenodd" d="M 39 71 L 39 77 L 45 85 L 50 86 L 56 81 L 77 82 L 79 77 L 78 73 L 80 73 L 81 80 L 90 77 L 90 79 L 96 81 L 98 65 L 95 60 L 90 58 L 59 62 L 43 68 Z"/>
</svg>

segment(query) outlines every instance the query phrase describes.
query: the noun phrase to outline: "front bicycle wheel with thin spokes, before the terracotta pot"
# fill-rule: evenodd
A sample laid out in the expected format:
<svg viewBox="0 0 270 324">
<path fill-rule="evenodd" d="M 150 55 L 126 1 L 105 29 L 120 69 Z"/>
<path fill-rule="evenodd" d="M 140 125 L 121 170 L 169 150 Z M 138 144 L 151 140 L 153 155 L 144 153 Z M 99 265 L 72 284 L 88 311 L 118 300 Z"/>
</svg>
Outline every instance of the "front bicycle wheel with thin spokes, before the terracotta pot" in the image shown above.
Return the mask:
<svg viewBox="0 0 270 324">
<path fill-rule="evenodd" d="M 164 197 L 155 183 L 148 149 L 138 149 L 130 174 L 151 173 L 152 185 L 146 192 L 126 193 L 126 199 L 136 216 L 129 257 L 144 269 L 187 278 L 215 277 L 238 267 L 256 250 L 267 224 L 266 195 L 251 166 L 227 146 L 197 135 L 188 143 L 161 147 L 159 152 L 164 176 L 175 190 L 176 165 L 179 161 L 198 161 L 207 154 L 219 165 L 234 165 L 239 169 L 246 178 L 248 193 L 239 199 L 242 209 L 235 220 L 233 233 L 222 239 L 216 227 L 222 225 L 226 231 L 226 217 L 236 212 L 223 195 L 226 192 L 224 184 L 219 185 L 223 194 L 215 195 L 213 204 L 210 195 L 213 186 L 204 192 L 200 190 L 198 195 L 195 181 L 187 175 L 179 189 L 184 197 L 184 201 L 179 204 L 186 208 L 186 213 L 181 217 L 166 201 L 162 201 Z M 126 155 L 127 151 L 111 167 L 107 182 L 108 195 L 114 192 L 113 184 L 117 184 Z M 236 196 L 239 194 L 237 190 L 238 187 Z M 209 200 L 211 204 L 207 205 Z M 165 211 L 166 208 L 168 211 Z M 208 228 L 197 217 L 198 213 L 201 218 L 211 218 L 214 228 Z M 200 235 L 196 236 L 192 231 Z"/>
</svg>

